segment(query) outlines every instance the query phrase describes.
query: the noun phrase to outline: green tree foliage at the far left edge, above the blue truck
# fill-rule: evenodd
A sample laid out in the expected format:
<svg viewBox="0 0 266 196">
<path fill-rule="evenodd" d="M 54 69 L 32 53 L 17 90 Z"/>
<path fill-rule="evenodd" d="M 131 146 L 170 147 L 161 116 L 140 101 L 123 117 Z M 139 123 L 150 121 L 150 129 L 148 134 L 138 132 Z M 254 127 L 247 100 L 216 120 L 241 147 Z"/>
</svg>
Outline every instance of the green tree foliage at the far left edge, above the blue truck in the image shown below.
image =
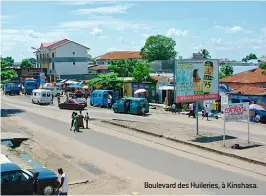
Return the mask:
<svg viewBox="0 0 266 196">
<path fill-rule="evenodd" d="M 13 65 L 14 59 L 12 57 L 1 58 L 1 83 L 18 78 L 17 72 L 9 68 Z"/>
</svg>

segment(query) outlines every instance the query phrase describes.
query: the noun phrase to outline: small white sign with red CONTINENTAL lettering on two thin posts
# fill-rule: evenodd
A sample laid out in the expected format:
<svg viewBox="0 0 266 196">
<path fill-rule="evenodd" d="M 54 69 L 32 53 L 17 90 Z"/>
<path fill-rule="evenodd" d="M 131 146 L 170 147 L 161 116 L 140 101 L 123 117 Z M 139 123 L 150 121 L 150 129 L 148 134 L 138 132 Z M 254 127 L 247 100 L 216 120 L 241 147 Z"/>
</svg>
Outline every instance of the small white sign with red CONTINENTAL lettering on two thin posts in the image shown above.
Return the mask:
<svg viewBox="0 0 266 196">
<path fill-rule="evenodd" d="M 233 103 L 224 105 L 225 122 L 249 120 L 249 103 Z"/>
</svg>

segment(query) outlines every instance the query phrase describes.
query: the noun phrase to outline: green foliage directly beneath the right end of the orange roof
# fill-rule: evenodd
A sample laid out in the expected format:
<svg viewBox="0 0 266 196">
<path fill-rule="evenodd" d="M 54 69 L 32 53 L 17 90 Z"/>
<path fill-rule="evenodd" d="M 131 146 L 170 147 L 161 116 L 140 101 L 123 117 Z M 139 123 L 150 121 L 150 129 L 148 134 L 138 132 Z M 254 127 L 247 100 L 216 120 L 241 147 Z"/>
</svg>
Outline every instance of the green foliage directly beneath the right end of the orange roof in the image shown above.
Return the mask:
<svg viewBox="0 0 266 196">
<path fill-rule="evenodd" d="M 111 65 L 108 67 L 108 69 L 111 72 L 117 73 L 118 77 L 132 77 L 137 62 L 138 61 L 135 59 L 129 59 L 127 61 L 111 61 Z"/>
</svg>

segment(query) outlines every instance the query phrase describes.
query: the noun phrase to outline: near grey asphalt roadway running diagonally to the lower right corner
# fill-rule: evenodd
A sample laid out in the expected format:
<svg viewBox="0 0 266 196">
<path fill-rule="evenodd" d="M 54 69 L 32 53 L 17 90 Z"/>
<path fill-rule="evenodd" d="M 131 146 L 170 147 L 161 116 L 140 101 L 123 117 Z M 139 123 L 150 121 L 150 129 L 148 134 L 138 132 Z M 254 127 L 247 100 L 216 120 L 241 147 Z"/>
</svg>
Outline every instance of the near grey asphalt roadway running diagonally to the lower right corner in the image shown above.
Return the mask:
<svg viewBox="0 0 266 196">
<path fill-rule="evenodd" d="M 5 115 L 8 109 L 17 109 L 2 103 L 1 112 Z M 184 157 L 160 151 L 154 148 L 130 142 L 118 137 L 113 137 L 96 131 L 84 131 L 81 134 L 74 134 L 69 131 L 69 124 L 58 121 L 49 117 L 40 116 L 31 112 L 18 114 L 22 119 L 31 120 L 34 124 L 45 127 L 51 131 L 64 134 L 74 139 L 102 150 L 131 163 L 139 165 L 143 168 L 157 171 L 161 174 L 168 175 L 174 179 L 184 182 L 204 182 L 218 183 L 233 182 L 233 183 L 248 183 L 256 184 L 258 188 L 244 189 L 206 189 L 206 192 L 211 191 L 212 194 L 222 195 L 265 195 L 266 193 L 266 178 L 265 181 L 245 176 L 240 173 L 223 170 L 221 168 L 195 162 Z M 159 181 L 159 179 L 158 179 Z"/>
</svg>

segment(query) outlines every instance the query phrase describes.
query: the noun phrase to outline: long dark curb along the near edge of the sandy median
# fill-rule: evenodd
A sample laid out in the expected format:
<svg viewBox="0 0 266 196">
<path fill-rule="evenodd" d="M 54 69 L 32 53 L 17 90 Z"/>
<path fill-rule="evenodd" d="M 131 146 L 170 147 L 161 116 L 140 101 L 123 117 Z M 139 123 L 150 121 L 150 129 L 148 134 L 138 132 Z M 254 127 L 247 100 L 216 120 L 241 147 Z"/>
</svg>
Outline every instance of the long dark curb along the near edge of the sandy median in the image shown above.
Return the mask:
<svg viewBox="0 0 266 196">
<path fill-rule="evenodd" d="M 221 154 L 221 155 L 228 156 L 228 157 L 233 157 L 233 158 L 236 158 L 236 159 L 239 159 L 239 160 L 242 160 L 242 161 L 246 161 L 246 162 L 249 162 L 249 163 L 254 163 L 254 164 L 266 166 L 266 162 L 262 162 L 262 161 L 258 161 L 258 160 L 254 160 L 254 159 L 250 159 L 250 158 L 246 158 L 246 157 L 243 157 L 243 156 L 239 156 L 239 155 L 236 155 L 236 154 L 231 154 L 231 153 L 228 153 L 228 152 L 223 152 L 223 151 L 220 151 L 220 150 L 215 150 L 215 149 L 212 149 L 212 148 L 209 148 L 209 147 L 206 147 L 206 146 L 201 146 L 201 145 L 198 145 L 198 144 L 194 144 L 194 143 L 191 143 L 191 142 L 188 142 L 188 141 L 179 140 L 179 139 L 176 139 L 176 138 L 165 137 L 165 136 L 163 136 L 161 134 L 151 133 L 151 132 L 148 132 L 148 131 L 145 131 L 145 130 L 129 127 L 127 125 L 121 125 L 121 124 L 110 122 L 110 121 L 106 121 L 106 120 L 102 120 L 101 122 L 112 124 L 112 125 L 123 127 L 123 128 L 127 128 L 127 129 L 131 129 L 133 131 L 144 133 L 144 134 L 148 134 L 148 135 L 152 135 L 152 136 L 155 136 L 155 137 L 165 138 L 165 139 L 173 141 L 173 142 L 177 142 L 177 143 L 193 146 L 193 147 L 196 147 L 196 148 L 201 148 L 201 149 L 206 150 L 206 151 L 214 152 L 214 153 Z"/>
</svg>

